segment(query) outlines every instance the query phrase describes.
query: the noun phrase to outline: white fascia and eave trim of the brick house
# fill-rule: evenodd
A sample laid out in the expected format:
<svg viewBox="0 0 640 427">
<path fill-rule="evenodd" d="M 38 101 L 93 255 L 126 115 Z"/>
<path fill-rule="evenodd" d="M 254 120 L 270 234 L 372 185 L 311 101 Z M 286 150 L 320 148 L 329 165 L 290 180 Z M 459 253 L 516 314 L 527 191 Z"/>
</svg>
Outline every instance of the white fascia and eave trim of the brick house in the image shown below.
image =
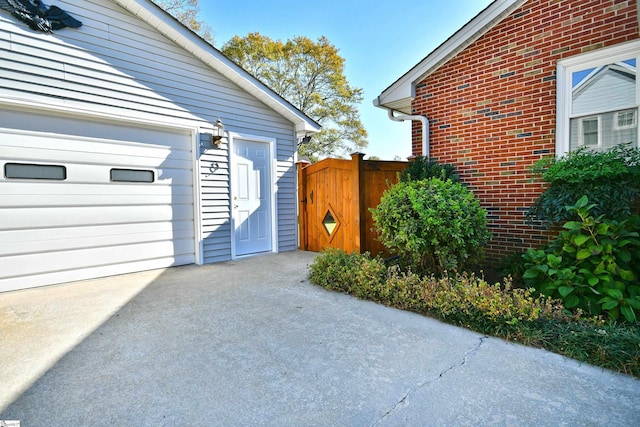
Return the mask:
<svg viewBox="0 0 640 427">
<path fill-rule="evenodd" d="M 391 86 L 382 91 L 374 104 L 386 108 L 392 108 L 392 105 L 395 105 L 394 109 L 410 114 L 416 84 L 478 40 L 526 1 L 495 0 Z"/>
</svg>

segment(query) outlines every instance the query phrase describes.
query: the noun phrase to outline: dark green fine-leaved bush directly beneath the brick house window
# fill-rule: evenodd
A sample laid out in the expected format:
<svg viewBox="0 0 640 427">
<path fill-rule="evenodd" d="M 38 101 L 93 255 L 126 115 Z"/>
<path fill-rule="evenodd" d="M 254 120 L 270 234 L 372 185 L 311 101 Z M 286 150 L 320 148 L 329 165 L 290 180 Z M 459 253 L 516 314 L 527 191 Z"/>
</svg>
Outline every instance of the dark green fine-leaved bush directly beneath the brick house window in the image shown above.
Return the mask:
<svg viewBox="0 0 640 427">
<path fill-rule="evenodd" d="M 640 197 L 640 149 L 629 144 L 605 152 L 578 149 L 536 163 L 533 173 L 549 183 L 527 211 L 529 221 L 547 226 L 576 220 L 565 206 L 586 195 L 597 203 L 593 215 L 620 219 L 631 215 Z"/>
</svg>

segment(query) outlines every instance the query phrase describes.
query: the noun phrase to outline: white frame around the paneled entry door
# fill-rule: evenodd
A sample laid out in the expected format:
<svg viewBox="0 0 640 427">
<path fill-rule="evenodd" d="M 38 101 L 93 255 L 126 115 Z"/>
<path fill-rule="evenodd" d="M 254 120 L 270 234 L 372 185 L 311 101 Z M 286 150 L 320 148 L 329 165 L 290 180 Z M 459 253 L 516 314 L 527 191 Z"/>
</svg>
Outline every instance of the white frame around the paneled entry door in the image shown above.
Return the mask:
<svg viewBox="0 0 640 427">
<path fill-rule="evenodd" d="M 230 219 L 231 219 L 231 259 L 236 258 L 246 258 L 253 256 L 255 254 L 246 254 L 246 255 L 237 255 L 236 254 L 236 239 L 235 239 L 235 230 L 236 230 L 236 215 L 235 210 L 233 209 L 233 199 L 236 196 L 237 189 L 235 188 L 234 182 L 236 177 L 234 176 L 234 171 L 237 165 L 237 155 L 235 154 L 235 145 L 237 140 L 249 141 L 249 142 L 257 142 L 260 144 L 268 144 L 269 146 L 269 192 L 271 195 L 271 250 L 270 252 L 278 252 L 278 218 L 277 218 L 277 199 L 276 199 L 276 140 L 274 138 L 267 138 L 264 136 L 250 135 L 245 133 L 237 133 L 237 132 L 227 132 L 228 141 L 229 141 L 229 161 L 230 161 L 230 172 L 229 172 L 229 210 L 230 210 Z M 264 253 L 264 252 L 260 252 Z"/>
</svg>

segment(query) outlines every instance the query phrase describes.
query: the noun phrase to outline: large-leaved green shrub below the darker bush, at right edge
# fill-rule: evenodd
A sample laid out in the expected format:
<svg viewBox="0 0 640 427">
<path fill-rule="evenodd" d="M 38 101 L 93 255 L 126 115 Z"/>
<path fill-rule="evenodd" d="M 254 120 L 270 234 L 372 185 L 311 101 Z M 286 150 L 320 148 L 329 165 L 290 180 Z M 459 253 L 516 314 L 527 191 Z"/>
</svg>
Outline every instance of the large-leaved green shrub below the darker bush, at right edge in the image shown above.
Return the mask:
<svg viewBox="0 0 640 427">
<path fill-rule="evenodd" d="M 564 224 L 546 249 L 523 255 L 524 280 L 569 309 L 634 322 L 640 312 L 640 217 L 594 218 L 595 205 L 588 203 L 583 196 L 567 208 L 579 221 Z"/>
</svg>

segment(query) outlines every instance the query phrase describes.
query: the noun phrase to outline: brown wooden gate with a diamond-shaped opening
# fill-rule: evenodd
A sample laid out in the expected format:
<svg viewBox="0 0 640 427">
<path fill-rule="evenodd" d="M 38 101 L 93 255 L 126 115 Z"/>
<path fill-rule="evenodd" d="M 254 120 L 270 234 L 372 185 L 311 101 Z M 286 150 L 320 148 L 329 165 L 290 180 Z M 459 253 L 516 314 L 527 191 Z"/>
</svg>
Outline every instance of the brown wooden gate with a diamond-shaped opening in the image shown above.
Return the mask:
<svg viewBox="0 0 640 427">
<path fill-rule="evenodd" d="M 384 252 L 376 237 L 369 208 L 380 203 L 388 185 L 398 182 L 407 162 L 325 159 L 298 163 L 300 249 L 318 252 L 326 247 L 347 252 Z"/>
</svg>

